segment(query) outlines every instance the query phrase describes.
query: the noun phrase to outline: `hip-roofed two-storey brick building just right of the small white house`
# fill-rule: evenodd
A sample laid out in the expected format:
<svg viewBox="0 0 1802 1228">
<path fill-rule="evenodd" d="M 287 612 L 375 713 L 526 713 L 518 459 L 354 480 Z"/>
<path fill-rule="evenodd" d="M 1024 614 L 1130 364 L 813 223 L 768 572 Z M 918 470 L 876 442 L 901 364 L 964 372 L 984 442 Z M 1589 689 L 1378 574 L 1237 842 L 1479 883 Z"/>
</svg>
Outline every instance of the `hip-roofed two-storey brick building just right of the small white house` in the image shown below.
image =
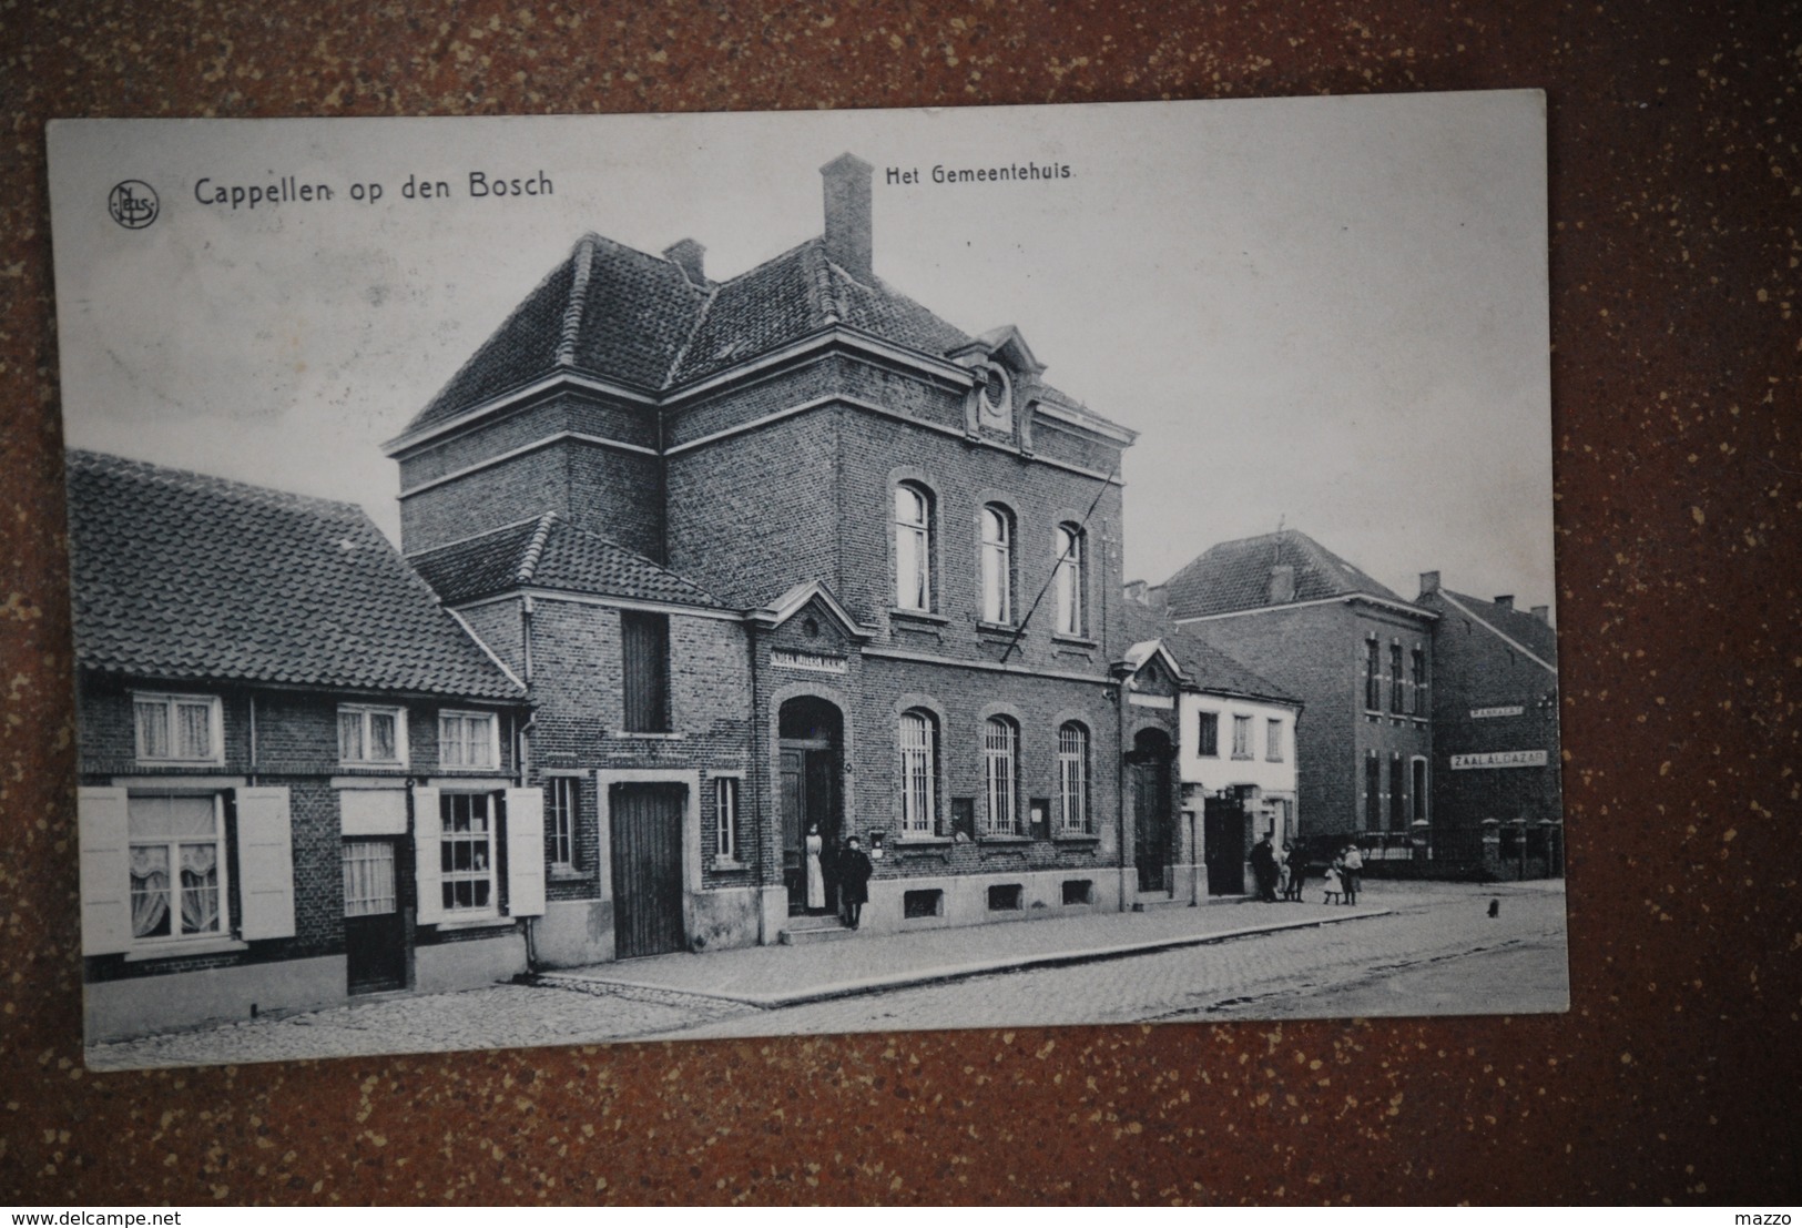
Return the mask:
<svg viewBox="0 0 1802 1228">
<path fill-rule="evenodd" d="M 1361 833 L 1379 855 L 1406 857 L 1434 808 L 1440 615 L 1292 530 L 1211 546 L 1155 591 L 1173 622 L 1306 705 L 1299 833 Z"/>
</svg>

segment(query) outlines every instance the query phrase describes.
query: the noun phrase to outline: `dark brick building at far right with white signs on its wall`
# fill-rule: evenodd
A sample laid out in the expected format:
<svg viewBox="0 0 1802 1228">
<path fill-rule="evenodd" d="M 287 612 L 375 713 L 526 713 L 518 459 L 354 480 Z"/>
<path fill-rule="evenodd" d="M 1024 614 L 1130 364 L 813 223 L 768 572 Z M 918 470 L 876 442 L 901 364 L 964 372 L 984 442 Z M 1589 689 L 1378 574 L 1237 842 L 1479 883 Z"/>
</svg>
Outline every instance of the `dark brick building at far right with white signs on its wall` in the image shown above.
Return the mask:
<svg viewBox="0 0 1802 1228">
<path fill-rule="evenodd" d="M 1506 871 L 1559 869 L 1559 644 L 1546 606 L 1483 600 L 1420 575 L 1416 604 L 1438 615 L 1433 640 L 1436 855 L 1472 858 L 1483 824 Z"/>
</svg>

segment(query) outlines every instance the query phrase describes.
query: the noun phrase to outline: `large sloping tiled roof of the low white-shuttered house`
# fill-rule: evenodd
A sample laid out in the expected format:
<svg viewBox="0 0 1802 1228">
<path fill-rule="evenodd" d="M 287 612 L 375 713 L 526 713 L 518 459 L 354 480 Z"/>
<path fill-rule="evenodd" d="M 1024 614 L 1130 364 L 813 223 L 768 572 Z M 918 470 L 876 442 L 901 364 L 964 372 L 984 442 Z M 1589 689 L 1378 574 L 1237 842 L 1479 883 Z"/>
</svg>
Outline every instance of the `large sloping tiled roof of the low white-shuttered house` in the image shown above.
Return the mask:
<svg viewBox="0 0 1802 1228">
<path fill-rule="evenodd" d="M 362 509 L 99 453 L 67 463 L 83 667 L 524 700 Z"/>
</svg>

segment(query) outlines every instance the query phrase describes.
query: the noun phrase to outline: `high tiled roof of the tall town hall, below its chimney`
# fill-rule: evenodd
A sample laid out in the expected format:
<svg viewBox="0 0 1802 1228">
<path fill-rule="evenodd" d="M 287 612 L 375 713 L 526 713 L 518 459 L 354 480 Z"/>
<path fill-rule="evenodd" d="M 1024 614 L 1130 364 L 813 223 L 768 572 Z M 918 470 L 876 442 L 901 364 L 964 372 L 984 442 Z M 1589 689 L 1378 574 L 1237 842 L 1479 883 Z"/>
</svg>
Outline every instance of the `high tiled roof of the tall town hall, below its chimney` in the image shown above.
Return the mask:
<svg viewBox="0 0 1802 1228">
<path fill-rule="evenodd" d="M 694 285 L 667 256 L 584 234 L 432 397 L 405 435 L 559 371 L 647 393 L 679 388 L 843 325 L 942 357 L 969 337 L 879 278 L 858 281 L 811 238 L 728 281 Z M 1042 388 L 1047 400 L 1106 422 Z"/>
</svg>

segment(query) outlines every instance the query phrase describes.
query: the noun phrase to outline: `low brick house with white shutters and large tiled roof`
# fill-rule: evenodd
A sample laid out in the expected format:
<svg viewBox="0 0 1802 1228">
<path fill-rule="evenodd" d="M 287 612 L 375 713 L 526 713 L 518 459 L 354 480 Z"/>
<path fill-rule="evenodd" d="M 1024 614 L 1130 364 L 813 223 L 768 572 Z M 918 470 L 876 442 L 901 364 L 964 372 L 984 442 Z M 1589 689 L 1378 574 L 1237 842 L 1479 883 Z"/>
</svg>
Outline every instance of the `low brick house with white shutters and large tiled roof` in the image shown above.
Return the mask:
<svg viewBox="0 0 1802 1228">
<path fill-rule="evenodd" d="M 524 687 L 357 507 L 67 469 L 88 1040 L 524 970 Z"/>
</svg>

